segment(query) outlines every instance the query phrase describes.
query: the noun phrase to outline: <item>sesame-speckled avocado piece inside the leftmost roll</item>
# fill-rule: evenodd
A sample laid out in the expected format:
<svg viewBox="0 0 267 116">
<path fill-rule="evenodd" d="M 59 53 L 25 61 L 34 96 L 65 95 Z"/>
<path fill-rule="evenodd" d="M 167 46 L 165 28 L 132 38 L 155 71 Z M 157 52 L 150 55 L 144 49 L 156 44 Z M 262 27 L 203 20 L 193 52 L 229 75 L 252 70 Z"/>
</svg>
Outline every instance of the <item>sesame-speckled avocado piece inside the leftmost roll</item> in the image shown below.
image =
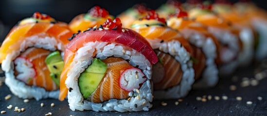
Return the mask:
<svg viewBox="0 0 267 116">
<path fill-rule="evenodd" d="M 60 74 L 64 67 L 64 61 L 61 58 L 60 52 L 55 51 L 49 54 L 45 58 L 45 63 L 50 72 L 50 77 L 55 82 L 55 84 L 59 86 Z"/>
</svg>

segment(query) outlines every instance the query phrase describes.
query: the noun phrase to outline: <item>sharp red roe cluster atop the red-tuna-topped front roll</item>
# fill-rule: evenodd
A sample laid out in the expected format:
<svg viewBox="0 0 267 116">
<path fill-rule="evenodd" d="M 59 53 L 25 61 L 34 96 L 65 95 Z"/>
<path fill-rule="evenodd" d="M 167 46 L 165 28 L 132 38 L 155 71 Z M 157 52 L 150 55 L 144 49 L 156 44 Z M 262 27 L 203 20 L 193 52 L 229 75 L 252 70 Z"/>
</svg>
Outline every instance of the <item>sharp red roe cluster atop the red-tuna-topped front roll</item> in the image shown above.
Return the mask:
<svg viewBox="0 0 267 116">
<path fill-rule="evenodd" d="M 113 21 L 110 18 L 108 18 L 107 21 L 103 24 L 104 28 L 109 28 L 113 30 L 122 29 L 122 26 L 123 24 L 120 18 L 115 18 Z"/>
</svg>

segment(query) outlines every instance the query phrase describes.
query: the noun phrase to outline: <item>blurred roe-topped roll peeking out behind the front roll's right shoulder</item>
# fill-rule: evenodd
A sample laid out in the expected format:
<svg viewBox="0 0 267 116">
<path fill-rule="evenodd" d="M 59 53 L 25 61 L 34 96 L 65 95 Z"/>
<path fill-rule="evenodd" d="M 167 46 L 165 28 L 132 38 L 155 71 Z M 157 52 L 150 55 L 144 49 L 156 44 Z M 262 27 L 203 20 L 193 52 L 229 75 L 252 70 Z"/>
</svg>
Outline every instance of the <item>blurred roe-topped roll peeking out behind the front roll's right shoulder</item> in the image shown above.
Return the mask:
<svg viewBox="0 0 267 116">
<path fill-rule="evenodd" d="M 132 23 L 135 20 L 142 18 L 147 11 L 148 8 L 146 8 L 145 4 L 136 4 L 132 8 L 129 8 L 125 12 L 119 14 L 117 17 L 122 19 L 122 24 L 125 28 L 130 28 Z"/>
</svg>

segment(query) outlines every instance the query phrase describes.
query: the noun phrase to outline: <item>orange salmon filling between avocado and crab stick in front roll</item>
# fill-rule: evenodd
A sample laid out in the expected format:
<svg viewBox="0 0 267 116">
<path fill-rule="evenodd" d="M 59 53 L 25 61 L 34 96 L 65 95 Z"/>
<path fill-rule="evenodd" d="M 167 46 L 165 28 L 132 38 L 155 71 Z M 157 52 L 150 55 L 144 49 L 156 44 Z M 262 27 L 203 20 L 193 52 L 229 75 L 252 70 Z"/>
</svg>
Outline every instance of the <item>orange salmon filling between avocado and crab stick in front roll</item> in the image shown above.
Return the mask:
<svg viewBox="0 0 267 116">
<path fill-rule="evenodd" d="M 120 77 L 121 73 L 133 66 L 123 58 L 107 58 L 102 61 L 107 64 L 107 72 L 89 101 L 100 103 L 110 99 L 126 99 L 129 92 L 120 87 Z"/>
</svg>

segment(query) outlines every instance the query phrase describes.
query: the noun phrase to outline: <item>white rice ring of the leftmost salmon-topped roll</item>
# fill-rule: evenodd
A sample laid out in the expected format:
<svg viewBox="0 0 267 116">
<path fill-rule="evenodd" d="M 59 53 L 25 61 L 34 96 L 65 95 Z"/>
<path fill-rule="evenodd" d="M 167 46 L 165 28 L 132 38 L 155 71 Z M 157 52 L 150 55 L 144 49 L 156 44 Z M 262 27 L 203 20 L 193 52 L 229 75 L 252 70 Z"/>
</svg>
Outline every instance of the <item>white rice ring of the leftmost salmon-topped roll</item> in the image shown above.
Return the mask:
<svg viewBox="0 0 267 116">
<path fill-rule="evenodd" d="M 22 99 L 34 98 L 37 101 L 46 98 L 57 99 L 59 90 L 46 91 L 45 88 L 42 87 L 28 86 L 15 77 L 15 67 L 13 60 L 15 60 L 20 53 L 24 52 L 27 48 L 30 47 L 43 48 L 50 51 L 55 51 L 56 49 L 63 51 L 65 49 L 64 45 L 62 45 L 60 42 L 57 42 L 55 38 L 45 36 L 45 34 L 43 33 L 27 37 L 24 41 L 21 42 L 20 49 L 8 54 L 1 64 L 2 70 L 6 75 L 5 84 L 10 88 L 10 91 L 13 94 Z M 64 53 L 62 52 L 61 55 L 64 55 Z M 19 60 L 16 63 L 18 63 L 16 67 L 18 68 L 18 70 L 20 70 L 21 68 L 27 68 L 25 70 L 31 70 L 31 67 L 22 67 L 23 63 L 25 63 L 22 60 Z M 30 72 L 23 73 L 25 73 L 26 75 L 31 75 Z"/>
</svg>

